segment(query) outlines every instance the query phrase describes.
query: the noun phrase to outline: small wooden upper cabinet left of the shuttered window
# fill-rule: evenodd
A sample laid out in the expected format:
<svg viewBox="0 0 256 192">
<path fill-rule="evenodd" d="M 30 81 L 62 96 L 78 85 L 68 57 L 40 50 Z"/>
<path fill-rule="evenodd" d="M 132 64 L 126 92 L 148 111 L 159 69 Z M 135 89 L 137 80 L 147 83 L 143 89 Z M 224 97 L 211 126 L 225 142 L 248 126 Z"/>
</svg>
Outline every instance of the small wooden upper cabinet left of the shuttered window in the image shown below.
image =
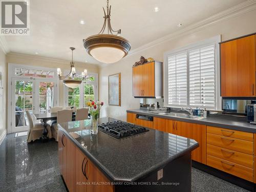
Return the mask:
<svg viewBox="0 0 256 192">
<path fill-rule="evenodd" d="M 147 62 L 133 67 L 133 96 L 137 98 L 162 98 L 163 63 Z"/>
</svg>

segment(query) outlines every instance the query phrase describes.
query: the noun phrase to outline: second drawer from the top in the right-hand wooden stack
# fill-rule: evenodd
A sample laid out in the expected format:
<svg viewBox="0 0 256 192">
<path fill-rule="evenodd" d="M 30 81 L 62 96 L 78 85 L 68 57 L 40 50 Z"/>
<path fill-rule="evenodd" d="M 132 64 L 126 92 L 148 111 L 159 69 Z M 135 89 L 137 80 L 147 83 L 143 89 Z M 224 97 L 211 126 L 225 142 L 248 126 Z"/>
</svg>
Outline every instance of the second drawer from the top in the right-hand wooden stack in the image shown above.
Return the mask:
<svg viewBox="0 0 256 192">
<path fill-rule="evenodd" d="M 253 142 L 207 133 L 207 143 L 229 150 L 253 154 Z"/>
</svg>

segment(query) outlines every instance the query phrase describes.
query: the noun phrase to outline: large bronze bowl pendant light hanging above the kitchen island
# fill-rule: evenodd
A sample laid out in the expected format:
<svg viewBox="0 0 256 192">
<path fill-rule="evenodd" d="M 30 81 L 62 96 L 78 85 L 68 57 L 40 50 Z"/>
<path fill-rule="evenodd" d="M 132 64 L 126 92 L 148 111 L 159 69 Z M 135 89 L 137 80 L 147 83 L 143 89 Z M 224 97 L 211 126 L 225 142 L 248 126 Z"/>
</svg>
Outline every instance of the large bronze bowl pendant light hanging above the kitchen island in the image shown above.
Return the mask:
<svg viewBox="0 0 256 192">
<path fill-rule="evenodd" d="M 104 11 L 103 27 L 97 35 L 83 39 L 83 47 L 87 53 L 96 60 L 103 63 L 113 63 L 125 57 L 131 49 L 130 42 L 121 37 L 121 29 L 115 31 L 110 23 L 111 6 L 109 0 L 106 1 L 106 12 Z M 107 14 L 106 14 L 107 13 Z M 103 34 L 107 26 L 108 34 Z"/>
</svg>

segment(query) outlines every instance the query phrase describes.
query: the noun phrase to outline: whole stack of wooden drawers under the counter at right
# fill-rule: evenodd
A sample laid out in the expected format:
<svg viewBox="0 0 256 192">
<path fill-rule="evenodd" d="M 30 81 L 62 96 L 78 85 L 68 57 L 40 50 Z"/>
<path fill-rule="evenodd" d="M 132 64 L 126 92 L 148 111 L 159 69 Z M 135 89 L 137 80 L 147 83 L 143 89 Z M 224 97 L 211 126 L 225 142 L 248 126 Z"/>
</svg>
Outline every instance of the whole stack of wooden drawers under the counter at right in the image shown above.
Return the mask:
<svg viewBox="0 0 256 192">
<path fill-rule="evenodd" d="M 207 165 L 253 181 L 253 134 L 207 126 Z"/>
</svg>

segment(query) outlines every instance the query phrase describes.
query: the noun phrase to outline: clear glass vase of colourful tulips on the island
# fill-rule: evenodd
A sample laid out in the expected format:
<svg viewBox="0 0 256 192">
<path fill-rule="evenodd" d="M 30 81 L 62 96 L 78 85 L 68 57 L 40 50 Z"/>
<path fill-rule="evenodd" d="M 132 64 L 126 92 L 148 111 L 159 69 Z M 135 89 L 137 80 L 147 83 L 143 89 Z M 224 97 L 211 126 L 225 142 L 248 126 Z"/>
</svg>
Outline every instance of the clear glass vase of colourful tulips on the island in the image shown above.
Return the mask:
<svg viewBox="0 0 256 192">
<path fill-rule="evenodd" d="M 87 105 L 89 106 L 89 112 L 91 117 L 91 134 L 96 135 L 98 133 L 99 112 L 103 105 L 103 102 L 91 101 L 87 102 Z"/>
</svg>

